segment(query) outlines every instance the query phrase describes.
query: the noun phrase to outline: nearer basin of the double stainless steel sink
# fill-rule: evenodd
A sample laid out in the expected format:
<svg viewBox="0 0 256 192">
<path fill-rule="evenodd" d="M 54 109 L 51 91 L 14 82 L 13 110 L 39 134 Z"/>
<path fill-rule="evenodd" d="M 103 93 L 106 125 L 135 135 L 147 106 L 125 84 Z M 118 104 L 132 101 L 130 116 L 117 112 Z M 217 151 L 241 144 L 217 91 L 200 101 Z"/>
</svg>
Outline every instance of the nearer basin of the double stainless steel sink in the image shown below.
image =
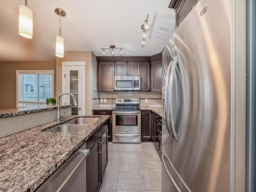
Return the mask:
<svg viewBox="0 0 256 192">
<path fill-rule="evenodd" d="M 89 125 L 61 124 L 44 132 L 79 132 L 87 129 Z"/>
</svg>

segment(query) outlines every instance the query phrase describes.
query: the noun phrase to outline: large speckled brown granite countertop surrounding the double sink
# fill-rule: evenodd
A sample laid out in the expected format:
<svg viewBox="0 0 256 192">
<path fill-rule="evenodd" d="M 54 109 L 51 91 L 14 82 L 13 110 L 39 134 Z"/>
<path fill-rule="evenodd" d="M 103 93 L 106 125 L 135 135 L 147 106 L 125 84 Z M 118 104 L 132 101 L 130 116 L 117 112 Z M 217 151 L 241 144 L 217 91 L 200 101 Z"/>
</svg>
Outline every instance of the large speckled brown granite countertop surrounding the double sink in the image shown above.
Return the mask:
<svg viewBox="0 0 256 192">
<path fill-rule="evenodd" d="M 78 117 L 100 119 L 80 132 L 41 132 Z M 0 191 L 34 191 L 110 116 L 73 115 L 0 139 Z"/>
</svg>

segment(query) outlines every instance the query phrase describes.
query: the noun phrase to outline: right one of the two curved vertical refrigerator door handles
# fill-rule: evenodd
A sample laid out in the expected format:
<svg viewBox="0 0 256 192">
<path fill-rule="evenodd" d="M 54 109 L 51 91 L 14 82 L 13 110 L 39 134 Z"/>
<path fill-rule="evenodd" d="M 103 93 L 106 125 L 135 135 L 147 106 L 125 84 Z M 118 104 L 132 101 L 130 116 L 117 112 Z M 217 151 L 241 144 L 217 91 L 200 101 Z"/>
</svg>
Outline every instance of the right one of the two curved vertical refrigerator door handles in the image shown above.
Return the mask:
<svg viewBox="0 0 256 192">
<path fill-rule="evenodd" d="M 174 97 L 174 93 L 173 93 L 173 86 L 174 86 L 174 75 L 175 75 L 175 70 L 176 67 L 178 65 L 178 57 L 176 56 L 174 59 L 174 63 L 173 63 L 173 69 L 170 72 L 170 86 L 171 86 L 171 90 L 170 90 L 170 104 L 169 104 L 169 116 L 170 116 L 170 128 L 172 130 L 173 133 L 173 137 L 175 138 L 176 141 L 178 141 L 178 134 L 175 131 L 175 127 L 174 127 L 174 116 L 173 116 L 173 97 Z M 169 90 L 168 90 L 169 92 Z"/>
</svg>

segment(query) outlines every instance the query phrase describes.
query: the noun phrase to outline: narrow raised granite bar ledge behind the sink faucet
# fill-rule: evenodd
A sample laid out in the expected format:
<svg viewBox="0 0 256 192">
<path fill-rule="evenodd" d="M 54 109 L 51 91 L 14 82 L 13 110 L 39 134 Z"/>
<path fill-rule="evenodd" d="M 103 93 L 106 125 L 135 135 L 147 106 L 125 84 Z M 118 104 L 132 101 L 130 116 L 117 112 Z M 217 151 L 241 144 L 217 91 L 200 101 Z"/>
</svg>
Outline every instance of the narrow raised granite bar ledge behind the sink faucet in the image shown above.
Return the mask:
<svg viewBox="0 0 256 192">
<path fill-rule="evenodd" d="M 62 108 L 70 108 L 73 106 L 72 104 L 70 105 L 63 105 L 60 106 L 60 109 Z M 37 113 L 37 112 L 42 112 L 42 111 L 51 111 L 51 110 L 56 110 L 57 105 L 51 105 L 51 106 L 29 106 L 25 108 L 14 108 L 14 109 L 7 109 L 7 110 L 0 110 L 0 118 L 5 118 L 5 117 L 13 117 L 17 115 L 25 115 L 29 113 Z"/>
</svg>

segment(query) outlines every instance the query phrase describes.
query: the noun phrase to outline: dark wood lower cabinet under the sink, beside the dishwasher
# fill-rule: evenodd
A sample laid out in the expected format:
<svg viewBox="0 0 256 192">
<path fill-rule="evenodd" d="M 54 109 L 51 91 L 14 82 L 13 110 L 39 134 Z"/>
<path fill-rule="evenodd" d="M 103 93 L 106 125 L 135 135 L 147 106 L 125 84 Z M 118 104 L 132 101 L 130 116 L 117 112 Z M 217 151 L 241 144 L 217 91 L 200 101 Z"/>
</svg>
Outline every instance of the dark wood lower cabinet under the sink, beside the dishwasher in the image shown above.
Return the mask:
<svg viewBox="0 0 256 192">
<path fill-rule="evenodd" d="M 108 126 L 105 122 L 87 141 L 90 150 L 87 157 L 87 191 L 98 192 L 108 164 Z"/>
</svg>

